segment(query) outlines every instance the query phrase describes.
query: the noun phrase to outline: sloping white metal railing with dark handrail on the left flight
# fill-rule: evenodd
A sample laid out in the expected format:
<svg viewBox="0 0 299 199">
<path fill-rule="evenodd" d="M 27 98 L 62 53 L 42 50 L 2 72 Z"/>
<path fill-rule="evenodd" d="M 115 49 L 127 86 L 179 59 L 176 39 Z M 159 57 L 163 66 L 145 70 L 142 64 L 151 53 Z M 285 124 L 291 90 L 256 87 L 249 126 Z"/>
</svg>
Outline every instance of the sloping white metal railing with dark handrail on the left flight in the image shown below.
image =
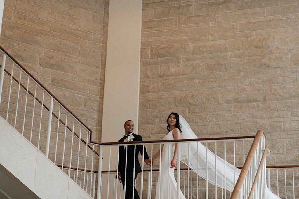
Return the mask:
<svg viewBox="0 0 299 199">
<path fill-rule="evenodd" d="M 95 170 L 99 156 L 88 144 L 91 130 L 2 47 L 0 52 L 0 116 L 91 195 L 94 187 L 87 183 L 96 178 L 87 171 Z"/>
</svg>

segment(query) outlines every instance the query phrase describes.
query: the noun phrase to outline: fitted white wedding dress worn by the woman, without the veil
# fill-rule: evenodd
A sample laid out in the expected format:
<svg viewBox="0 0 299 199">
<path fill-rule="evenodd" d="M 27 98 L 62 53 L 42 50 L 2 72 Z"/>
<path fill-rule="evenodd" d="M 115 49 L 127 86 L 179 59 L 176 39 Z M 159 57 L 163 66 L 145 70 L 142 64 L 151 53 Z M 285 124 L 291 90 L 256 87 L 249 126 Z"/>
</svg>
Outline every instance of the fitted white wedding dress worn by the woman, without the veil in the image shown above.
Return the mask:
<svg viewBox="0 0 299 199">
<path fill-rule="evenodd" d="M 167 135 L 164 136 L 163 140 L 174 140 L 172 131 L 168 132 Z M 158 183 L 156 187 L 156 199 L 176 198 L 177 183 L 176 179 L 174 178 L 174 168 L 170 169 L 170 161 L 173 158 L 174 147 L 175 146 L 173 143 L 164 143 L 161 154 L 161 170 L 159 172 Z M 185 199 L 184 194 L 181 191 L 180 199 Z"/>
</svg>

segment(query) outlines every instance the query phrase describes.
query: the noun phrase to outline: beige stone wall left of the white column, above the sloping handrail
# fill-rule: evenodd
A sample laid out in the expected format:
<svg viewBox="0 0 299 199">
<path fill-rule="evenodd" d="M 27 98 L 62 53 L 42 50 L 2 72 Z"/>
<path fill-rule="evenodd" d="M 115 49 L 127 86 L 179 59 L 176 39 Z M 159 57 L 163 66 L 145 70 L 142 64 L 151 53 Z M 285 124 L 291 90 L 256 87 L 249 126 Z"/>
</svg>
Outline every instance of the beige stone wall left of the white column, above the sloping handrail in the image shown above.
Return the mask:
<svg viewBox="0 0 299 199">
<path fill-rule="evenodd" d="M 0 45 L 100 140 L 105 0 L 5 0 Z"/>
</svg>

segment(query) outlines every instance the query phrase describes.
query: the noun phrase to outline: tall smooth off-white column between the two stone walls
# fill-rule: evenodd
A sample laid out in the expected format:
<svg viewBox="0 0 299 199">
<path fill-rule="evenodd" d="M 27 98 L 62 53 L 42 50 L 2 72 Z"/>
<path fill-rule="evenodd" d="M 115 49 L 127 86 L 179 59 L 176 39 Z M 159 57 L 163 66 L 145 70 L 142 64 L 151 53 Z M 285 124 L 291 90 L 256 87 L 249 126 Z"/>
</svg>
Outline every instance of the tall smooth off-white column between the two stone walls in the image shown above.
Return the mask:
<svg viewBox="0 0 299 199">
<path fill-rule="evenodd" d="M 134 122 L 134 133 L 138 134 L 141 14 L 142 0 L 109 1 L 102 142 L 117 142 L 125 133 L 126 120 Z M 103 149 L 109 150 L 107 146 Z M 115 158 L 111 158 L 111 170 L 116 168 L 117 153 L 117 147 L 112 147 L 111 156 Z M 108 155 L 103 154 L 103 170 L 108 170 Z M 107 190 L 106 176 L 102 190 Z M 113 189 L 109 189 L 109 195 L 113 195 Z"/>
</svg>

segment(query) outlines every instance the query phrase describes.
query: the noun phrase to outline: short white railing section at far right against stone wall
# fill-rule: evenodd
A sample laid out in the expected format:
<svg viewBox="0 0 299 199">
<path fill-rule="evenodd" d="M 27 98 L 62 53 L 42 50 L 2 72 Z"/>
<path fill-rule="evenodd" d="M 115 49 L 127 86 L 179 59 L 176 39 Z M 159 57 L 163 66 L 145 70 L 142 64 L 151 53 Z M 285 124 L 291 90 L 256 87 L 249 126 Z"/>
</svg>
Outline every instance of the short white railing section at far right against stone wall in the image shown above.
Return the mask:
<svg viewBox="0 0 299 199">
<path fill-rule="evenodd" d="M 267 166 L 267 186 L 281 198 L 299 198 L 299 165 Z"/>
</svg>

